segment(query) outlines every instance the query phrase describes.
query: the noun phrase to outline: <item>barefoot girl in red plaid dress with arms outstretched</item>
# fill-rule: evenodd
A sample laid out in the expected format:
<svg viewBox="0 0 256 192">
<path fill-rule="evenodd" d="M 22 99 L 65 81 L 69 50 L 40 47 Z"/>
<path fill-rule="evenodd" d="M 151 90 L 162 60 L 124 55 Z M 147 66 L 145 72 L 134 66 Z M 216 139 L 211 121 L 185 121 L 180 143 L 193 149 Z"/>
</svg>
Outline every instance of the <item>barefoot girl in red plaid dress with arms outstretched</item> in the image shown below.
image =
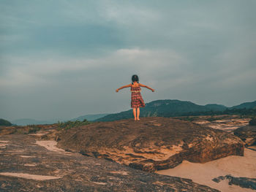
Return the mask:
<svg viewBox="0 0 256 192">
<path fill-rule="evenodd" d="M 137 74 L 132 75 L 132 83 L 129 85 L 124 85 L 121 88 L 118 88 L 116 92 L 118 92 L 122 88 L 131 88 L 132 92 L 132 100 L 131 100 L 131 107 L 133 109 L 133 115 L 135 116 L 135 120 L 140 120 L 140 107 L 145 107 L 144 101 L 142 96 L 140 95 L 140 87 L 148 88 L 152 92 L 154 92 L 153 88 L 149 88 L 146 85 L 142 85 L 139 83 L 139 77 Z M 137 112 L 137 114 L 136 114 Z"/>
</svg>

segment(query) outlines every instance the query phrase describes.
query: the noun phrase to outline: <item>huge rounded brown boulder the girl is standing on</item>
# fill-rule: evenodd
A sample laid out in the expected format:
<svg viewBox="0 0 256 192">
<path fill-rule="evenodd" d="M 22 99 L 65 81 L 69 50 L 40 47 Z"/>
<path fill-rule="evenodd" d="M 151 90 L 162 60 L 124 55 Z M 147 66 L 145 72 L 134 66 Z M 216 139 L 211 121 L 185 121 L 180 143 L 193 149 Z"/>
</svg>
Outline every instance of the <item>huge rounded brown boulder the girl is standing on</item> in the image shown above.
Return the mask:
<svg viewBox="0 0 256 192">
<path fill-rule="evenodd" d="M 214 128 L 173 118 L 118 120 L 70 128 L 58 146 L 83 155 L 106 158 L 154 172 L 187 160 L 204 163 L 227 155 L 243 155 L 238 137 Z"/>
</svg>

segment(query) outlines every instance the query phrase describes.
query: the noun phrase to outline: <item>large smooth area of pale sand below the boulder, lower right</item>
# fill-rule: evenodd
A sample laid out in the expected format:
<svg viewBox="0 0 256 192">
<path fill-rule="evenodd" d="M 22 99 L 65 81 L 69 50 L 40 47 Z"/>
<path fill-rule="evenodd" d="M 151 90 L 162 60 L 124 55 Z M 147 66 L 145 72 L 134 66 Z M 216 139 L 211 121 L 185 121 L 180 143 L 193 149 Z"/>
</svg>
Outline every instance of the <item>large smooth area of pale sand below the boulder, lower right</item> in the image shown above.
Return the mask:
<svg viewBox="0 0 256 192">
<path fill-rule="evenodd" d="M 233 177 L 256 178 L 256 151 L 245 148 L 244 156 L 230 155 L 205 164 L 183 161 L 182 164 L 173 169 L 161 170 L 157 173 L 188 178 L 195 183 L 207 185 L 219 191 L 253 191 L 238 185 L 228 185 L 227 180 L 215 183 L 212 179 L 227 174 L 231 174 Z"/>
</svg>

